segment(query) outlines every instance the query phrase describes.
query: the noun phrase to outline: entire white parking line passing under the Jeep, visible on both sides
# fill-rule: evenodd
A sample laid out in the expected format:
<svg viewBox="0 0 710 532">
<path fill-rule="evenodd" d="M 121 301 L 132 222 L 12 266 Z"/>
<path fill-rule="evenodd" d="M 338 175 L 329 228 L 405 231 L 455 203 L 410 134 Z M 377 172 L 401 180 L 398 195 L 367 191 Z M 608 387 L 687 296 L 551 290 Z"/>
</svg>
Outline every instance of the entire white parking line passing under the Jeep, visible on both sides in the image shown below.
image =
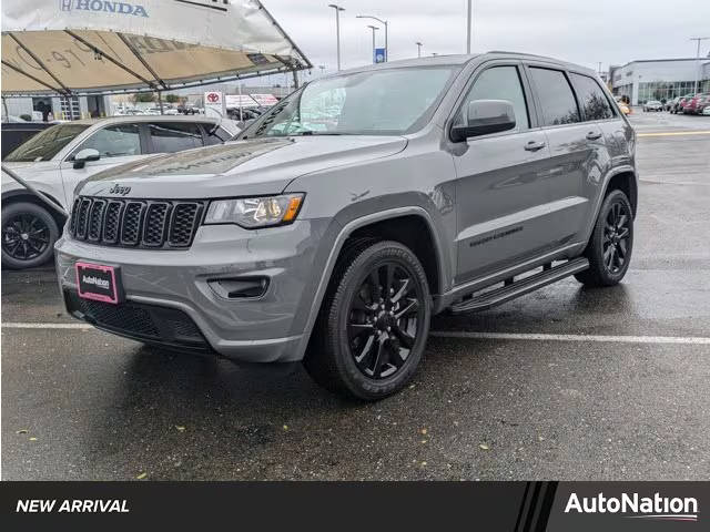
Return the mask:
<svg viewBox="0 0 710 532">
<path fill-rule="evenodd" d="M 4 323 L 3 329 L 75 329 L 94 330 L 89 324 L 22 324 Z M 710 338 L 699 336 L 605 336 L 605 335 L 544 335 L 520 332 L 466 332 L 434 330 L 435 338 L 460 338 L 473 340 L 521 340 L 521 341 L 596 341 L 610 344 L 686 344 L 709 346 Z"/>
</svg>

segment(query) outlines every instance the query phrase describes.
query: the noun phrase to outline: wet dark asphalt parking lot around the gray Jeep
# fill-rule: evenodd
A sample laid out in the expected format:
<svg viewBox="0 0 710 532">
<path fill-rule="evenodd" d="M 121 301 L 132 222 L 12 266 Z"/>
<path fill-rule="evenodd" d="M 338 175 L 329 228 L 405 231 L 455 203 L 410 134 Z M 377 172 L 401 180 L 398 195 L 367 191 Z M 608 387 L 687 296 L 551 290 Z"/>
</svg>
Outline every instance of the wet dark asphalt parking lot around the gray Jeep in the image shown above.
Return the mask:
<svg viewBox="0 0 710 532">
<path fill-rule="evenodd" d="M 82 328 L 51 267 L 2 275 L 6 480 L 707 480 L 710 116 L 640 113 L 621 286 L 434 320 L 376 405 Z"/>
</svg>

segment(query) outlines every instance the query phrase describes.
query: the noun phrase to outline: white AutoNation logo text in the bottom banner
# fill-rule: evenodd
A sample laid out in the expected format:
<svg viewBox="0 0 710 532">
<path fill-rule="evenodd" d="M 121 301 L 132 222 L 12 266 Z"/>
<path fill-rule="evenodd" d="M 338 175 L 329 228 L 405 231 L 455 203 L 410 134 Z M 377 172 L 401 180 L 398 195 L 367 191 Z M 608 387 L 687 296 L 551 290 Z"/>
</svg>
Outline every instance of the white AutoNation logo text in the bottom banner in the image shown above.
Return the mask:
<svg viewBox="0 0 710 532">
<path fill-rule="evenodd" d="M 698 500 L 668 498 L 660 493 L 640 497 L 638 493 L 621 493 L 620 497 L 582 497 L 571 493 L 565 513 L 620 513 L 625 518 L 652 519 L 662 521 L 698 521 Z"/>
</svg>

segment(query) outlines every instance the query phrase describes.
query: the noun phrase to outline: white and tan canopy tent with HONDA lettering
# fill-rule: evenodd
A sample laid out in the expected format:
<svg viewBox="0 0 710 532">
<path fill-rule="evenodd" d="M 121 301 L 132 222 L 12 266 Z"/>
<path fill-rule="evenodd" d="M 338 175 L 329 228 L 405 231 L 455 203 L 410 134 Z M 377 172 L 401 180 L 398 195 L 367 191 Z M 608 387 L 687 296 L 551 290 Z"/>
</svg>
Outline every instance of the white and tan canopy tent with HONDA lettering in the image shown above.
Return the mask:
<svg viewBox="0 0 710 532">
<path fill-rule="evenodd" d="M 2 96 L 170 91 L 312 68 L 258 0 L 2 0 Z"/>
</svg>

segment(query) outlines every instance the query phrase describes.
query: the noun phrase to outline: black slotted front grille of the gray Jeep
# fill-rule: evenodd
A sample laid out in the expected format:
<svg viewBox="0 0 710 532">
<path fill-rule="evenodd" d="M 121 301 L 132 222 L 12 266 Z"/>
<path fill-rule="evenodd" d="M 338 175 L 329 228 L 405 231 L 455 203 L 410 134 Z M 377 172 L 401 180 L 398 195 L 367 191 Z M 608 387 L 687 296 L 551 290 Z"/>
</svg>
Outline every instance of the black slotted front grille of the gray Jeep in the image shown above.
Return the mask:
<svg viewBox="0 0 710 532">
<path fill-rule="evenodd" d="M 202 222 L 203 202 L 79 197 L 69 231 L 104 246 L 187 248 Z"/>
</svg>

